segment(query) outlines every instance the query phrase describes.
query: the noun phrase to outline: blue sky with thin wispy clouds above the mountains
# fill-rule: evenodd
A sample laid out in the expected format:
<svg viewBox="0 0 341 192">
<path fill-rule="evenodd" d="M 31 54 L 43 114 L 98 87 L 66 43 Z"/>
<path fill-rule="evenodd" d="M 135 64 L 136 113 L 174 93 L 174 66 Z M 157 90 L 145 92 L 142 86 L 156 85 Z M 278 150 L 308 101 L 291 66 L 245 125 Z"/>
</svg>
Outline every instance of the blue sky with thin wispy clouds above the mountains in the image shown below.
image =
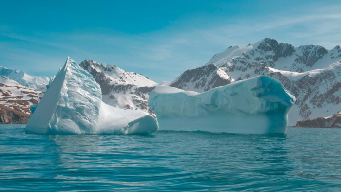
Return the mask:
<svg viewBox="0 0 341 192">
<path fill-rule="evenodd" d="M 67 56 L 156 82 L 264 38 L 341 45 L 340 0 L 0 0 L 0 65 L 52 76 Z"/>
</svg>

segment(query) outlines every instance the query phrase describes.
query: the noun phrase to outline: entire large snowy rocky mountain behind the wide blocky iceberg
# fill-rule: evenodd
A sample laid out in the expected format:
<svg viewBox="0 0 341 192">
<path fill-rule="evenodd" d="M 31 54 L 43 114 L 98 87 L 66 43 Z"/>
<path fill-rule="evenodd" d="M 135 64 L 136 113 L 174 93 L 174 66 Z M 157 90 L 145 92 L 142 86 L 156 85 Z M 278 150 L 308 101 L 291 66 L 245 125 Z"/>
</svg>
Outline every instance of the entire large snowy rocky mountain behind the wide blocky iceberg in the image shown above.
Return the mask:
<svg viewBox="0 0 341 192">
<path fill-rule="evenodd" d="M 280 80 L 295 95 L 289 125 L 307 118 L 330 116 L 341 109 L 340 46 L 332 50 L 317 45 L 294 47 L 265 38 L 245 48 L 231 46 L 215 54 L 205 66 L 187 70 L 170 86 L 203 92 L 224 84 L 223 77 L 229 79 L 225 81 L 228 84 L 259 75 Z"/>
</svg>

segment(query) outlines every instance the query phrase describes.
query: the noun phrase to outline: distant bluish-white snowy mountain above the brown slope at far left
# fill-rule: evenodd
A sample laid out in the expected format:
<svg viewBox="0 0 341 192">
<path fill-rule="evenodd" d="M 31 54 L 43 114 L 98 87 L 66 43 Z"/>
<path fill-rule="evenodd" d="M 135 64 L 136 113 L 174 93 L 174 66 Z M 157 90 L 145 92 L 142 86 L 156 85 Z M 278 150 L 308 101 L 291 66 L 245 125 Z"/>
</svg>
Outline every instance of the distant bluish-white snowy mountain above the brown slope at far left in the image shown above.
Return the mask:
<svg viewBox="0 0 341 192">
<path fill-rule="evenodd" d="M 0 75 L 9 77 L 21 85 L 38 90 L 45 91 L 46 85 L 49 84 L 49 78 L 45 76 L 37 77 L 30 76 L 25 72 L 16 69 L 7 69 L 6 67 L 0 67 Z"/>
</svg>

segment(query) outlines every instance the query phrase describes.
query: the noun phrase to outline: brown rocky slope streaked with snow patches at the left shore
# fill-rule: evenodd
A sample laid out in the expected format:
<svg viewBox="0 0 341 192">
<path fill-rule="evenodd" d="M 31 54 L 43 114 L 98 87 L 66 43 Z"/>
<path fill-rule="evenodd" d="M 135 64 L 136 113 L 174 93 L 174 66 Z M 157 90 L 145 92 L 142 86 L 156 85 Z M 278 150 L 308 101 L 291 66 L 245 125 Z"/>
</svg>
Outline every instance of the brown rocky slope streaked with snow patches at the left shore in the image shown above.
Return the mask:
<svg viewBox="0 0 341 192">
<path fill-rule="evenodd" d="M 43 92 L 0 76 L 0 123 L 27 123 L 30 106 L 38 104 Z"/>
</svg>

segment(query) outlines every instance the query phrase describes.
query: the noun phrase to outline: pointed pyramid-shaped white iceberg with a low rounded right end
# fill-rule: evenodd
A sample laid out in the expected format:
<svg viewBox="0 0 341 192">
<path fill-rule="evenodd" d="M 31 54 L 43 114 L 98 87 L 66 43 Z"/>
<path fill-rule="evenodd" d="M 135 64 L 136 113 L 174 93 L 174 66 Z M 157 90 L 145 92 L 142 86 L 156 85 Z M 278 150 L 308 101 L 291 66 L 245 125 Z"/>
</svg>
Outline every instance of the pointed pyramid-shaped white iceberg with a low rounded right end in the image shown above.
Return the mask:
<svg viewBox="0 0 341 192">
<path fill-rule="evenodd" d="M 157 121 L 142 111 L 127 111 L 101 101 L 95 79 L 68 57 L 26 125 L 35 134 L 150 134 Z"/>
</svg>

